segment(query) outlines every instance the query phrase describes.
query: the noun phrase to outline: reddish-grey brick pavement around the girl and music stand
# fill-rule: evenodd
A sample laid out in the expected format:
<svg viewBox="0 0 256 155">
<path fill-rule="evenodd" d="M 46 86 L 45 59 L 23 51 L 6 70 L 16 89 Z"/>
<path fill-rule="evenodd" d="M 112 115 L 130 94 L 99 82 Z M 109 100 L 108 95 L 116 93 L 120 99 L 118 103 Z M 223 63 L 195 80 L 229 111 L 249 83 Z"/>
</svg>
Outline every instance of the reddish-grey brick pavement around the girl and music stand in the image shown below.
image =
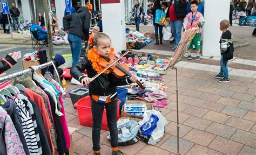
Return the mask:
<svg viewBox="0 0 256 155">
<path fill-rule="evenodd" d="M 161 108 L 168 121 L 166 133 L 156 146 L 138 142 L 120 147 L 125 154 L 177 153 L 175 72 L 169 70 L 166 82 L 169 105 Z M 181 154 L 256 154 L 256 79 L 232 76 L 231 82 L 218 83 L 214 72 L 178 68 L 180 153 Z M 191 76 L 192 75 L 192 76 Z M 68 85 L 76 87 L 73 85 Z M 76 154 L 92 154 L 91 128 L 81 126 L 70 98 L 65 100 L 68 125 L 78 128 L 73 134 Z M 103 154 L 111 153 L 108 131 L 102 130 Z"/>
</svg>

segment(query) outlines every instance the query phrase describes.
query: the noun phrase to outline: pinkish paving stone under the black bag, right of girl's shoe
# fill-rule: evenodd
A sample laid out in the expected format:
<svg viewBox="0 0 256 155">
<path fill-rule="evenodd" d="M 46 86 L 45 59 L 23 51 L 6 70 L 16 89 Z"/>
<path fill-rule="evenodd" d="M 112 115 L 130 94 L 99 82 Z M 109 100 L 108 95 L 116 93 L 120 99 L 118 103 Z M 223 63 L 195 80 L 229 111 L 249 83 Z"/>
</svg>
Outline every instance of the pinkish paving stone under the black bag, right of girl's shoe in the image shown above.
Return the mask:
<svg viewBox="0 0 256 155">
<path fill-rule="evenodd" d="M 127 146 L 118 146 L 118 148 L 120 150 L 122 150 L 123 153 L 125 154 L 136 154 L 137 152 L 139 152 L 140 150 L 142 150 L 147 144 L 140 141 L 134 145 L 129 145 L 129 147 Z"/>
</svg>

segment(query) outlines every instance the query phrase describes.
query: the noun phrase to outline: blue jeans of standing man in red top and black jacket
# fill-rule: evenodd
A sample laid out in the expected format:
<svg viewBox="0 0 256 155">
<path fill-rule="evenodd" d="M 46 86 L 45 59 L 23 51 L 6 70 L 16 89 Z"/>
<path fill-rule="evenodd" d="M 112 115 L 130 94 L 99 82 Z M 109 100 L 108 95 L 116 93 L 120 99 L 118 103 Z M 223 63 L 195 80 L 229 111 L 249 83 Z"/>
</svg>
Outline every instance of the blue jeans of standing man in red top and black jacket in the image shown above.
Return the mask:
<svg viewBox="0 0 256 155">
<path fill-rule="evenodd" d="M 175 20 L 171 22 L 171 30 L 172 30 L 173 38 L 175 39 L 176 47 L 178 46 L 179 41 L 181 39 L 181 27 L 182 27 L 181 20 Z"/>
</svg>

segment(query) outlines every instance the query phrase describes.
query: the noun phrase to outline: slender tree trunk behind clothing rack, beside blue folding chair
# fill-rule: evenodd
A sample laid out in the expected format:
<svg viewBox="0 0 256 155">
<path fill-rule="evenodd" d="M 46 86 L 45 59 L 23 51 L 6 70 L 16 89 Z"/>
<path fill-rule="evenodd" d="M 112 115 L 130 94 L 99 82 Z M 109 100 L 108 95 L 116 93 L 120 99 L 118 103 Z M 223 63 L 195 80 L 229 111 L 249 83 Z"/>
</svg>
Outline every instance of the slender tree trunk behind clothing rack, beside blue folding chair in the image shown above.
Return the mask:
<svg viewBox="0 0 256 155">
<path fill-rule="evenodd" d="M 52 43 L 52 34 L 51 34 L 51 22 L 50 22 L 50 18 L 49 18 L 49 8 L 48 8 L 48 4 L 47 4 L 47 0 L 43 0 L 43 5 L 44 5 L 44 12 L 45 12 L 45 20 L 46 20 L 46 27 L 47 27 L 47 32 L 48 32 L 48 47 L 49 47 L 49 55 L 50 55 L 50 59 L 52 59 L 53 55 L 54 55 L 54 51 L 53 51 L 53 43 Z M 49 4 L 50 5 L 50 4 Z"/>
</svg>

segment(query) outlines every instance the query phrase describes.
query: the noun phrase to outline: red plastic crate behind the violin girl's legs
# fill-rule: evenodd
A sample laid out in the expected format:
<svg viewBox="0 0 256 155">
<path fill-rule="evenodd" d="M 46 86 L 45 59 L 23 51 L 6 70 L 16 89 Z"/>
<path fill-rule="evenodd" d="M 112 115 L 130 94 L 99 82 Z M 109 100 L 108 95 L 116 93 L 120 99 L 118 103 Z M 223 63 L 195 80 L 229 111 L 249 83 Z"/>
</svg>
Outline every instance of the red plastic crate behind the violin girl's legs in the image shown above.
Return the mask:
<svg viewBox="0 0 256 155">
<path fill-rule="evenodd" d="M 117 120 L 119 119 L 119 104 L 121 103 L 120 100 L 117 101 Z M 80 125 L 83 126 L 90 126 L 92 127 L 92 111 L 91 111 L 91 97 L 85 96 L 84 98 L 81 98 L 77 101 L 77 103 L 74 104 L 74 107 L 77 108 L 78 111 L 78 117 Z M 109 130 L 107 127 L 107 118 L 106 118 L 106 109 L 104 108 L 103 111 L 103 118 L 102 118 L 102 129 L 103 130 Z"/>
</svg>

